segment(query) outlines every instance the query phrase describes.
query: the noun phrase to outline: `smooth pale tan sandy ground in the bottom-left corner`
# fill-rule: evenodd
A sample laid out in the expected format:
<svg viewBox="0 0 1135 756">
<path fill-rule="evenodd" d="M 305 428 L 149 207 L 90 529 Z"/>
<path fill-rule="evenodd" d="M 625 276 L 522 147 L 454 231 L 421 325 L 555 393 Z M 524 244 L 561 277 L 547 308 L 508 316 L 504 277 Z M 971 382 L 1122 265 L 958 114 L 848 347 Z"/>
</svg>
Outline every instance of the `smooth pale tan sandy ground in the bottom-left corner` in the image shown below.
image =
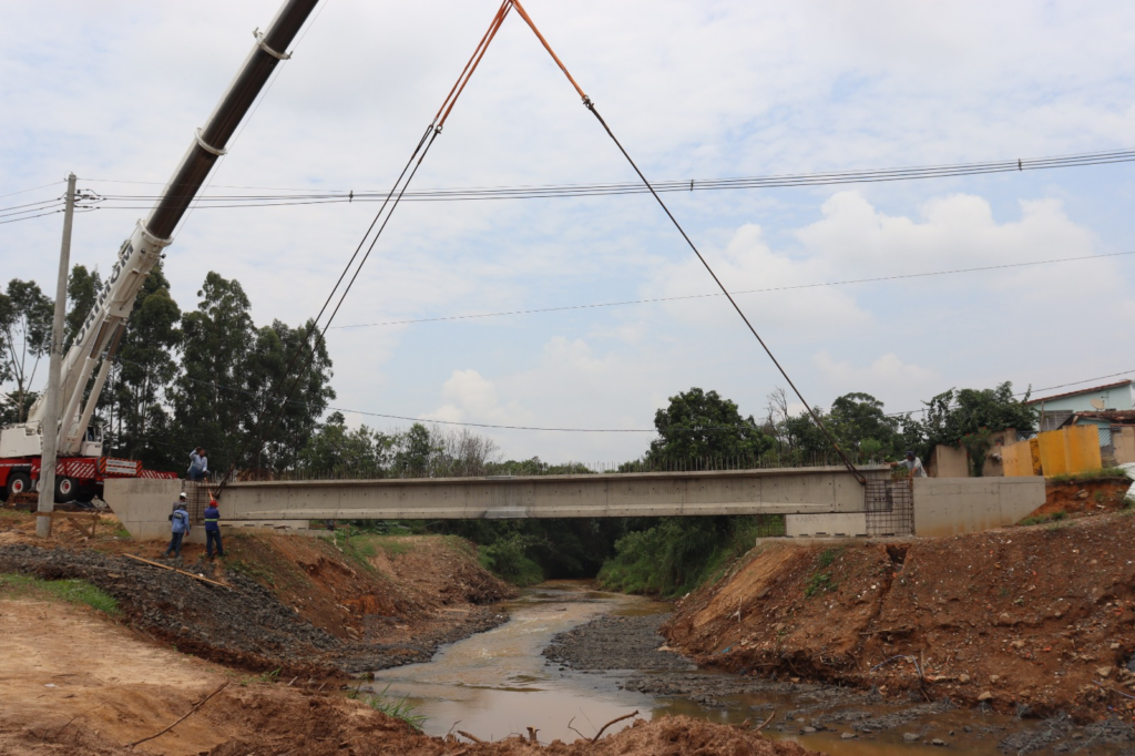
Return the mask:
<svg viewBox="0 0 1135 756">
<path fill-rule="evenodd" d="M 138 639 L 85 607 L 0 600 L 0 751 L 100 753 L 153 734 L 225 680 L 221 667 Z M 197 754 L 224 738 L 190 719 L 141 753 Z"/>
</svg>

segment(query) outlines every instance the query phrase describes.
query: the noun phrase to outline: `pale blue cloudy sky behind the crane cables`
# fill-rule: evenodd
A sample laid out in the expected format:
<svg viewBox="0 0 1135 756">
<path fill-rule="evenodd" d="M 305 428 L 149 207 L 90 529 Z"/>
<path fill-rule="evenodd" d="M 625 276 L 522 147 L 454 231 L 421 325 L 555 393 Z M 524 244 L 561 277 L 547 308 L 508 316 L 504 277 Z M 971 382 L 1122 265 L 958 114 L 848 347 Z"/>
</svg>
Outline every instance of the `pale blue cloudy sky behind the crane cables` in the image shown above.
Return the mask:
<svg viewBox="0 0 1135 756">
<path fill-rule="evenodd" d="M 227 187 L 393 182 L 495 0 L 325 0 L 230 143 Z M 277 0 L 0 8 L 0 195 L 60 182 L 153 194 Z M 712 179 L 1135 148 L 1125 2 L 529 0 L 648 177 Z M 516 17 L 419 188 L 634 177 Z M 0 198 L 50 199 L 58 183 Z M 1135 163 L 666 195 L 733 291 L 1135 251 Z M 143 203 L 144 204 L 144 203 Z M 192 309 L 209 270 L 258 324 L 311 317 L 376 205 L 197 209 L 167 275 Z M 76 218 L 73 261 L 107 270 L 145 208 Z M 5 278 L 53 289 L 61 216 L 0 225 Z M 738 295 L 805 396 L 888 411 L 957 387 L 1024 390 L 1130 371 L 1135 255 Z M 716 389 L 763 415 L 783 380 L 722 297 L 388 324 L 708 294 L 649 196 L 404 203 L 330 331 L 335 405 L 411 418 L 648 429 Z M 1110 380 L 1110 379 L 1108 379 Z M 1099 383 L 1108 383 L 1101 380 Z M 1090 384 L 1085 384 L 1090 385 Z M 486 431 L 510 456 L 617 462 L 649 434 Z"/>
</svg>

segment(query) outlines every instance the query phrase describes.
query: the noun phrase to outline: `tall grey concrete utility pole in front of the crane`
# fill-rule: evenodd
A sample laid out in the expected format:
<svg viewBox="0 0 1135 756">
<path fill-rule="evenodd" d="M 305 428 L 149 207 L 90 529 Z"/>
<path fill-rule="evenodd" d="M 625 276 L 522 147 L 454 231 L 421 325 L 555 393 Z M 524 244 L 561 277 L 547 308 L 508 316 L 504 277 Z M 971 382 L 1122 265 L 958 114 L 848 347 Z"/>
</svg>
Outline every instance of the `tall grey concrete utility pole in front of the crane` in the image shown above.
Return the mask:
<svg viewBox="0 0 1135 756">
<path fill-rule="evenodd" d="M 67 313 L 67 274 L 70 272 L 70 229 L 75 218 L 75 174 L 67 176 L 67 210 L 64 213 L 64 241 L 59 249 L 59 279 L 56 283 L 56 314 L 51 321 L 51 356 L 48 362 L 48 396 L 44 402 L 40 436 L 40 516 L 35 535 L 51 536 L 51 512 L 56 509 L 56 453 L 59 451 L 59 379 L 64 359 L 64 317 Z"/>
</svg>

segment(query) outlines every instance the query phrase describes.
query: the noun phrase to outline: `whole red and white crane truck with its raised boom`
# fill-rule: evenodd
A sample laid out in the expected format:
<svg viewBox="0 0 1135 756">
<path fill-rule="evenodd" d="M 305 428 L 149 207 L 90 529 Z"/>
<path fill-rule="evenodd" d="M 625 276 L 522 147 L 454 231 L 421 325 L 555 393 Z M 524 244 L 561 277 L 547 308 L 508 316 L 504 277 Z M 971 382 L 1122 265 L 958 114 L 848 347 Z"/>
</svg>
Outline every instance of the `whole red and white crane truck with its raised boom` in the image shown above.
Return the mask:
<svg viewBox="0 0 1135 756">
<path fill-rule="evenodd" d="M 102 494 L 108 478 L 177 478 L 175 472 L 145 470 L 141 462 L 104 456 L 102 431 L 91 420 L 118 352 L 134 300 L 174 230 L 201 190 L 229 138 L 260 94 L 276 65 L 319 0 L 285 0 L 268 30 L 253 32 L 255 43 L 150 213 L 140 219 L 118 249 L 106 284 L 64 358 L 59 386 L 60 422 L 44 428 L 44 395 L 27 420 L 0 429 L 0 495 L 6 499 L 36 489 L 44 444 L 57 444 L 56 503 L 90 502 Z M 92 383 L 92 376 L 94 380 Z"/>
</svg>

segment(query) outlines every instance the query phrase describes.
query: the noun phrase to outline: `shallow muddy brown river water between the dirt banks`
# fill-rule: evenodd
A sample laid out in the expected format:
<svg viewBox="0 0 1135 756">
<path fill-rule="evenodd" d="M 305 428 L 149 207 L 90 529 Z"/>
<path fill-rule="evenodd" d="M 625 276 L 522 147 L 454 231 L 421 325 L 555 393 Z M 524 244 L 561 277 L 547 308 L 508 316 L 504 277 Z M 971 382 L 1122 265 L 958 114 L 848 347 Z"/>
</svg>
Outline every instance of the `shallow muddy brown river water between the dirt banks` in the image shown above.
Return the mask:
<svg viewBox="0 0 1135 756">
<path fill-rule="evenodd" d="M 369 688 L 376 694 L 385 690 L 388 698 L 405 697 L 415 714 L 427 717 L 426 732 L 437 736 L 464 730 L 498 740 L 536 728 L 541 742 L 570 742 L 638 709 L 647 719 L 686 714 L 733 724 L 772 716 L 765 729 L 770 736 L 833 756 L 911 754 L 931 744 L 978 755 L 1053 749 L 1121 753 L 1115 733 L 1109 738 L 1067 721 L 1018 720 L 948 705 L 901 705 L 821 686 L 746 687 L 743 680 L 749 679 L 714 675 L 691 665 L 579 671 L 549 662 L 541 652 L 557 633 L 603 616 L 649 618 L 670 611 L 666 604 L 596 591 L 585 582 L 541 583 L 523 590 L 507 610 L 511 619 L 498 628 L 443 648 L 431 662 L 377 672 Z M 633 656 L 631 645 L 628 640 L 628 657 Z M 607 649 L 617 656 L 617 642 L 612 648 L 608 639 Z M 687 666 L 680 662 L 672 666 Z"/>
</svg>

